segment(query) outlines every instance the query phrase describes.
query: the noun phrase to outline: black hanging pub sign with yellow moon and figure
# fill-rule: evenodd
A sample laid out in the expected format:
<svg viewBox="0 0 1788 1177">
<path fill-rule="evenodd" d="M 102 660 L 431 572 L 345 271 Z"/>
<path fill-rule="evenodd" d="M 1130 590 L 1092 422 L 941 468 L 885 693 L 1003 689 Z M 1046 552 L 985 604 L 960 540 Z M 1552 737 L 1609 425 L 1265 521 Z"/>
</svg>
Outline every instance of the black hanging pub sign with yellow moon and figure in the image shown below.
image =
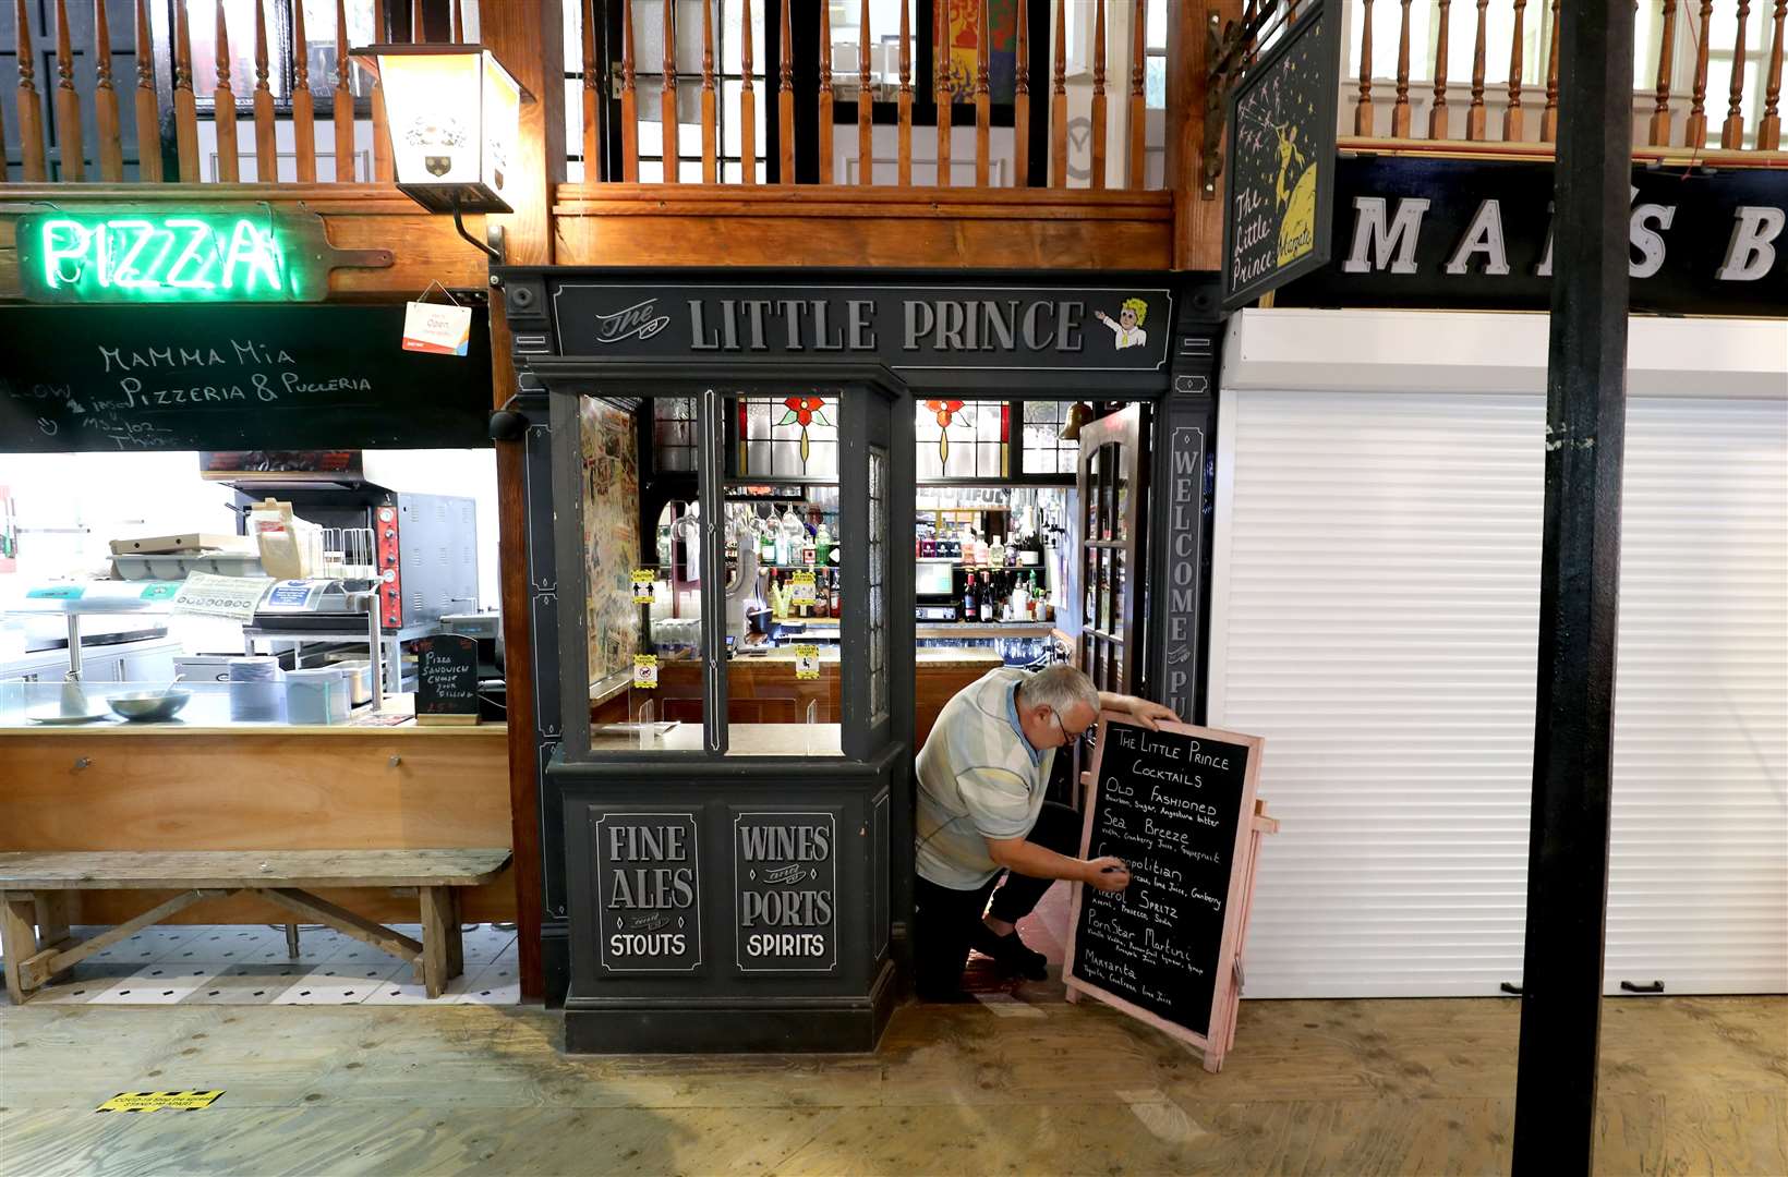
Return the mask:
<svg viewBox="0 0 1788 1177">
<path fill-rule="evenodd" d="M 1228 98 L 1223 163 L 1223 309 L 1328 261 L 1341 9 L 1298 7 Z"/>
</svg>

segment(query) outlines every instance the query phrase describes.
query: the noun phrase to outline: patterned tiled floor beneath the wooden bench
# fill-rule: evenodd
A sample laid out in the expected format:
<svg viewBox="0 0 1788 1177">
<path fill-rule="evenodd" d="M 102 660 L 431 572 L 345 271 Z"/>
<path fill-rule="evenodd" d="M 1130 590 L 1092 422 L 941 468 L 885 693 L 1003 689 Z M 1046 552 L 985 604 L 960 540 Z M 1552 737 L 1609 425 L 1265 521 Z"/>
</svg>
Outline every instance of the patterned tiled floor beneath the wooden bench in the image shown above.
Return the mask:
<svg viewBox="0 0 1788 1177">
<path fill-rule="evenodd" d="M 98 927 L 77 927 L 79 939 Z M 422 929 L 397 931 L 420 939 Z M 515 1006 L 520 981 L 515 932 L 467 925 L 465 975 L 438 1002 Z M 0 956 L 5 947 L 0 945 Z M 334 929 L 304 925 L 299 956 L 286 952 L 283 927 L 157 925 L 95 952 L 39 989 L 32 1004 L 55 1006 L 406 1006 L 427 998 L 413 970 L 397 957 Z M 0 991 L 0 1004 L 5 993 Z"/>
</svg>

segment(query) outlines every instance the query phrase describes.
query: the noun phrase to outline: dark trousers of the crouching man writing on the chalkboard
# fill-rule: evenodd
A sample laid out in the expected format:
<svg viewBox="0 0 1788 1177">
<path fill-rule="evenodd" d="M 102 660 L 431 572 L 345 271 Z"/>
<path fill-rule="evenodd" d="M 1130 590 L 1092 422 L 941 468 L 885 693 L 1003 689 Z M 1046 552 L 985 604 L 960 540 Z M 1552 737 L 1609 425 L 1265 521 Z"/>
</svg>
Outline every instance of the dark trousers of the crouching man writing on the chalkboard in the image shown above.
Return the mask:
<svg viewBox="0 0 1788 1177">
<path fill-rule="evenodd" d="M 1076 856 L 1080 852 L 1080 811 L 1042 802 L 1037 825 L 1025 841 Z M 1001 879 L 1005 881 L 1001 884 Z M 969 959 L 974 925 L 982 914 L 1017 923 L 1032 911 L 1055 879 L 1032 879 L 1017 872 L 999 872 L 973 891 L 942 888 L 928 879 L 914 882 L 914 982 L 919 997 L 944 997 L 962 988 L 962 966 Z M 994 891 L 994 888 L 999 888 Z M 992 911 L 987 893 L 994 891 Z"/>
</svg>

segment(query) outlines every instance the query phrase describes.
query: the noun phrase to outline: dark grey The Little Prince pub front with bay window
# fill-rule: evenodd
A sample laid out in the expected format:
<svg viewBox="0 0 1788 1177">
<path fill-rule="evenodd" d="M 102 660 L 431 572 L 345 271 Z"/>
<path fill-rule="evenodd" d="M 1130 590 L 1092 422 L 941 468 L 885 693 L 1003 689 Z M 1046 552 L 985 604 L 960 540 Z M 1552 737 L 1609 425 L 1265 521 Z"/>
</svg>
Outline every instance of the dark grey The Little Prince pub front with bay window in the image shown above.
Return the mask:
<svg viewBox="0 0 1788 1177">
<path fill-rule="evenodd" d="M 1150 689 L 1171 661 L 1178 698 L 1159 693 L 1193 718 L 1203 593 L 1148 586 L 1173 552 L 1196 572 L 1207 543 L 1212 291 L 1164 273 L 493 280 L 519 379 L 493 429 L 527 443 L 544 956 L 567 1050 L 873 1050 L 910 954 L 919 405 L 1151 414 L 1105 452 L 1132 472 L 1105 502 L 1168 502 L 1178 475 L 1189 509 L 1153 511 L 1148 564 L 1119 572 L 1107 629 L 1137 654 L 1101 686 Z M 653 468 L 667 443 L 678 502 Z M 796 498 L 830 523 L 831 641 L 803 645 L 826 625 L 803 611 L 765 652 L 762 614 L 792 609 L 740 586 L 815 593 L 774 547 Z"/>
</svg>

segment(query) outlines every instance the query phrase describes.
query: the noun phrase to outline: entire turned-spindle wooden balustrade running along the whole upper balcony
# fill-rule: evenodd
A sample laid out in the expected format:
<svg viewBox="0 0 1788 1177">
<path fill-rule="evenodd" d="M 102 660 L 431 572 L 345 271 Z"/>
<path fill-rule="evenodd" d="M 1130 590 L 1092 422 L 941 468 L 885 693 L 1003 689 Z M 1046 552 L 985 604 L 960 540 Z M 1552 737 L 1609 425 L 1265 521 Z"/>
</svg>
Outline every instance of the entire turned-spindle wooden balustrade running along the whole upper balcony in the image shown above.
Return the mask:
<svg viewBox="0 0 1788 1177">
<path fill-rule="evenodd" d="M 120 79 L 114 70 L 109 23 L 120 14 L 118 7 L 107 9 L 104 0 L 13 0 L 16 25 L 13 48 L 18 73 L 16 86 L 7 95 L 11 105 L 0 109 L 0 127 L 16 134 L 20 150 L 16 171 L 11 177 L 0 175 L 0 182 L 18 179 L 116 184 L 131 170 L 127 146 L 132 148 L 129 155 L 134 155 L 134 175 L 145 182 L 163 179 L 240 182 L 241 154 L 247 148 L 238 139 L 238 120 L 252 118 L 254 168 L 247 179 L 277 184 L 284 166 L 286 175 L 297 182 L 315 184 L 318 111 L 309 59 L 304 52 L 293 52 L 284 63 L 275 57 L 284 45 L 284 38 L 277 32 L 281 29 L 288 29 L 299 46 L 309 43 L 304 5 L 297 0 L 250 0 L 250 4 L 166 0 L 172 20 L 161 36 L 168 41 L 157 45 L 156 27 L 150 21 L 157 2 L 161 0 L 136 0 L 125 9 L 134 16 L 136 46 L 131 111 L 136 134 L 134 143 L 127 145 L 123 98 L 118 91 L 129 84 L 129 71 Z M 372 0 L 381 29 L 390 2 Z M 957 0 L 957 4 L 939 0 L 928 7 L 921 7 L 921 2 L 905 0 L 899 5 L 898 36 L 890 36 L 892 27 L 871 29 L 873 5 L 869 0 L 858 0 L 856 27 L 842 32 L 842 41 L 833 45 L 831 5 L 817 5 L 815 13 L 794 4 L 765 9 L 763 0 L 756 4 L 706 0 L 699 25 L 685 20 L 690 27 L 678 29 L 674 0 L 603 4 L 570 0 L 570 9 L 581 14 L 583 91 L 581 141 L 574 141 L 572 150 L 581 150 L 585 180 L 640 179 L 640 120 L 651 118 L 640 111 L 637 80 L 637 23 L 644 18 L 656 20 L 663 32 L 663 55 L 658 63 L 662 89 L 654 114 L 663 132 L 665 184 L 678 184 L 683 179 L 678 88 L 697 84 L 696 75 L 679 77 L 678 38 L 687 36 L 690 39 L 685 43 L 685 61 L 694 59 L 699 38 L 701 182 L 708 186 L 733 179 L 728 143 L 738 146 L 737 179 L 744 184 L 758 182 L 760 157 L 774 182 L 794 184 L 797 154 L 803 155 L 799 159 L 803 180 L 835 182 L 837 177 L 848 175 L 851 166 L 851 139 L 837 138 L 835 114 L 856 125 L 851 179 L 858 186 L 878 182 L 874 159 L 878 118 L 894 125 L 894 136 L 880 141 L 880 150 L 894 152 L 894 166 L 881 175 L 883 184 L 889 180 L 903 188 L 914 184 L 914 123 L 915 118 L 928 118 L 935 129 L 935 150 L 930 161 L 935 163 L 935 171 L 921 168 L 924 182 L 967 184 L 971 173 L 966 154 L 973 150 L 974 188 L 996 184 L 1025 188 L 1033 182 L 1033 164 L 1035 180 L 1051 188 L 1067 188 L 1071 171 L 1076 184 L 1092 189 L 1109 184 L 1130 189 L 1146 186 L 1150 116 L 1146 5 L 1169 0 L 1116 4 L 1087 0 L 1080 5 L 1044 0 L 1035 11 L 1032 4 L 1001 5 L 1007 13 L 1016 13 L 1016 29 L 1007 29 L 1003 36 L 1008 39 L 998 46 L 989 27 L 991 9 L 996 5 L 989 0 Z M 1364 139 L 1387 134 L 1400 150 L 1413 150 L 1423 141 L 1463 139 L 1477 145 L 1472 150 L 1480 152 L 1497 152 L 1498 145 L 1520 143 L 1523 146 L 1516 154 L 1547 154 L 1550 150 L 1547 145 L 1557 138 L 1559 118 L 1556 29 L 1561 7 L 1568 18 L 1572 2 L 1575 0 L 1470 0 L 1472 7 L 1466 13 L 1475 20 L 1464 30 L 1455 30 L 1454 0 L 1350 0 L 1346 29 L 1354 45 L 1343 82 L 1346 91 L 1343 102 L 1352 105 L 1348 121 L 1354 134 Z M 84 43 L 88 32 L 70 13 L 72 4 L 91 5 L 91 45 Z M 1647 18 L 1645 29 L 1650 30 L 1643 43 L 1657 46 L 1656 59 L 1647 57 L 1636 79 L 1636 141 L 1649 145 L 1641 154 L 1645 150 L 1654 155 L 1720 152 L 1722 159 L 1731 161 L 1740 152 L 1781 152 L 1783 36 L 1788 0 L 1640 0 L 1640 4 Z M 336 182 L 390 180 L 392 146 L 384 95 L 377 79 L 368 82 L 358 104 L 361 116 L 370 114 L 374 123 L 372 161 L 367 168 L 370 175 L 356 175 L 356 95 L 350 66 L 354 46 L 347 34 L 350 5 L 347 0 L 336 0 L 333 7 L 336 64 L 324 86 L 333 86 L 333 104 L 325 118 L 333 123 L 334 179 Z M 413 34 L 420 39 L 422 5 L 418 0 L 409 0 L 406 7 Z M 1295 20 L 1289 4 L 1286 11 L 1287 18 Z M 737 54 L 726 54 L 728 61 L 737 63 L 733 68 L 738 73 L 722 68 L 721 50 L 726 46 L 719 41 L 721 30 L 753 29 L 755 14 L 765 13 L 776 18 L 774 27 L 765 30 L 771 38 L 765 54 L 769 61 L 760 63 L 762 46 L 747 36 Z M 1032 21 L 1039 13 L 1050 13 L 1053 20 Z M 615 14 L 615 25 L 610 29 L 619 29 L 619 38 L 611 39 L 611 34 L 604 32 L 603 14 Z M 311 16 L 316 16 L 315 5 Z M 923 27 L 915 29 L 926 16 L 932 20 L 928 34 Z M 231 27 L 231 18 L 236 27 Z M 447 16 L 436 27 L 436 36 L 449 32 L 456 39 L 463 38 L 463 0 L 449 0 Z M 195 84 L 193 20 L 209 20 L 215 29 L 211 41 L 215 82 L 207 86 L 207 109 L 200 109 Z M 815 21 L 812 29 L 817 32 L 817 50 L 814 41 L 797 41 L 796 20 Z M 1082 32 L 1089 34 L 1073 63 L 1067 45 L 1076 38 L 1071 32 L 1062 34 L 1071 20 L 1084 21 Z M 1375 23 L 1380 39 L 1377 59 Z M 1395 55 L 1389 46 L 1393 34 Z M 915 39 L 926 36 L 928 43 Z M 1039 36 L 1042 43 L 1037 43 Z M 1468 77 L 1461 38 L 1470 38 Z M 1016 57 L 1007 70 L 994 54 L 1010 52 L 1007 46 L 1014 39 Z M 238 55 L 231 48 L 250 43 L 252 54 Z M 797 43 L 803 46 L 803 55 L 817 52 L 817 59 L 797 63 Z M 1128 61 L 1110 61 L 1114 43 L 1118 54 L 1128 48 Z M 1033 48 L 1035 63 L 1032 63 Z M 835 73 L 835 50 L 855 50 L 855 64 Z M 1041 68 L 1042 63 L 1050 63 L 1046 98 L 1033 105 L 1032 66 Z M 1110 71 L 1123 70 L 1125 64 L 1128 88 L 1114 102 L 1109 93 Z M 615 70 L 613 82 L 604 77 L 610 68 Z M 926 70 L 930 79 L 923 77 Z M 1384 77 L 1386 71 L 1389 77 Z M 1457 80 L 1454 75 L 1459 75 Z M 737 104 L 726 86 L 735 77 Z M 797 77 L 808 88 L 805 93 L 797 93 Z M 1718 116 L 1708 109 L 1708 89 L 1715 77 L 1725 88 L 1725 111 Z M 166 91 L 157 89 L 157 79 Z M 996 79 L 1008 80 L 1008 95 L 996 93 Z M 760 80 L 763 89 L 771 84 L 776 88 L 769 145 L 758 125 L 767 102 L 760 96 Z M 172 95 L 168 145 L 161 139 L 163 93 Z M 1720 95 L 1715 102 L 1718 98 Z M 803 136 L 799 143 L 797 102 L 815 104 L 810 114 L 819 116 L 817 134 L 812 125 L 799 127 Z M 999 111 L 1005 102 L 1010 102 L 1007 107 L 1010 123 Z M 846 109 L 835 111 L 839 105 Z M 1464 107 L 1463 120 L 1454 120 L 1457 107 Z M 969 113 L 973 113 L 973 136 L 966 123 Z M 1076 116 L 1085 121 L 1075 127 L 1071 138 L 1069 123 Z M 733 118 L 738 120 L 738 132 L 728 130 L 722 136 L 722 127 Z M 1035 127 L 1035 150 L 1033 118 L 1042 120 L 1042 125 Z M 291 163 L 281 159 L 279 146 L 283 134 L 279 123 L 286 120 L 293 123 Z M 1716 132 L 1711 127 L 1715 120 L 1718 120 Z M 211 121 L 215 132 L 209 138 L 200 134 L 206 121 Z M 606 136 L 613 136 L 615 143 L 608 143 Z M 88 138 L 93 141 L 84 141 Z M 243 132 L 243 139 L 247 138 Z M 1121 154 L 1121 159 L 1107 161 L 1112 150 Z M 806 152 L 812 152 L 812 157 L 805 157 Z M 1073 164 L 1071 152 L 1075 152 Z M 846 159 L 840 161 L 839 154 Z M 953 154 L 958 155 L 955 163 L 964 164 L 955 175 Z M 164 155 L 177 161 L 177 171 L 168 177 L 163 177 Z M 1779 164 L 1779 161 L 1770 163 Z M 172 170 L 175 163 L 168 166 Z"/>
</svg>

